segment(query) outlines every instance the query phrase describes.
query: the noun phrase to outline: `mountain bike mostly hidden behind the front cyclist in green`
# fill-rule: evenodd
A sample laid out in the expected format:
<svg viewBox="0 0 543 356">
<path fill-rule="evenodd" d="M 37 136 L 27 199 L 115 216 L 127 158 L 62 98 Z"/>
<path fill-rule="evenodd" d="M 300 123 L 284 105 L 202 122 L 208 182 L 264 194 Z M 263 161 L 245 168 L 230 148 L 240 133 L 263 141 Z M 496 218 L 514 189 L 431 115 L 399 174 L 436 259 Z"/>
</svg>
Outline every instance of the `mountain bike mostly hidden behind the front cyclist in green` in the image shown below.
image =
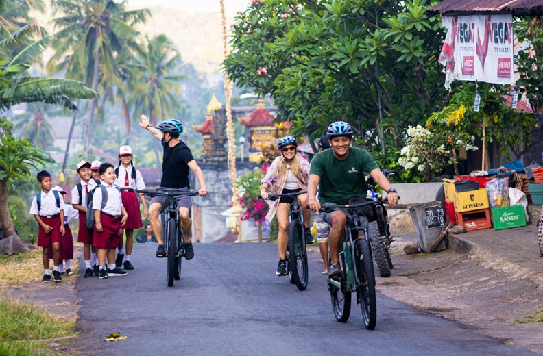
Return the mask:
<svg viewBox="0 0 543 356">
<path fill-rule="evenodd" d="M 383 172 L 383 175 L 388 176 L 394 175 L 396 170 L 381 170 L 381 172 Z M 365 178 L 367 181 L 367 190 L 371 192 L 371 196 L 367 194 L 367 198 L 380 201 L 381 193 L 377 191 L 376 181 L 370 175 Z M 390 244 L 394 242 L 394 238 L 390 235 L 389 222 L 386 217 L 387 209 L 382 204 L 376 207 L 376 214 L 374 216 L 368 217 L 370 218 L 370 225 L 378 231 L 375 239 L 372 238 L 372 249 L 381 277 L 389 277 L 390 270 L 394 268 L 392 259 L 390 258 Z"/>
</svg>

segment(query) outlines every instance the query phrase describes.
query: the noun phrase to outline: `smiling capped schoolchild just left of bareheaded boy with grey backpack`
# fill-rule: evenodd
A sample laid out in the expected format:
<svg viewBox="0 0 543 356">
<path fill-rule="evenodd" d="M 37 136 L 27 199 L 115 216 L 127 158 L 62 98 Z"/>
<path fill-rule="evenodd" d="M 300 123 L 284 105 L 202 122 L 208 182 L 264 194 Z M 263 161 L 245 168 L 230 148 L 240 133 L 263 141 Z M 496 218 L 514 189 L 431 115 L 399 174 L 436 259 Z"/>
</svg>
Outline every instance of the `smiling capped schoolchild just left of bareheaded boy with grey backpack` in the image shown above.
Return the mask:
<svg viewBox="0 0 543 356">
<path fill-rule="evenodd" d="M 77 183 L 72 189 L 72 206 L 79 212 L 80 227 L 77 234 L 77 241 L 83 244 L 83 257 L 85 259 L 85 274 L 83 277 L 93 277 L 93 264 L 96 266 L 95 275 L 98 275 L 98 259 L 96 257 L 96 248 L 93 246 L 93 229 L 86 226 L 86 194 L 93 190 L 97 183 L 90 179 L 92 172 L 91 165 L 86 161 L 77 164 L 77 177 L 80 177 L 80 183 Z"/>
</svg>

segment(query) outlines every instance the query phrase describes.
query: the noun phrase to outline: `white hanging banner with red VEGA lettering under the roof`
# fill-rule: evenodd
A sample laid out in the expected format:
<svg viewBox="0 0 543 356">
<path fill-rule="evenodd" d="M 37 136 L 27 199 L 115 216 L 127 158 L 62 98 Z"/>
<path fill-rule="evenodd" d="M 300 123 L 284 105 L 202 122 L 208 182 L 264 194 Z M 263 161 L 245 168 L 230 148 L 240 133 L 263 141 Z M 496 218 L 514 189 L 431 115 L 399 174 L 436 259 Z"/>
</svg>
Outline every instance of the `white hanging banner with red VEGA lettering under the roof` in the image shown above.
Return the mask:
<svg viewBox="0 0 543 356">
<path fill-rule="evenodd" d="M 453 80 L 514 84 L 513 16 L 442 16 L 447 31 L 439 63 Z"/>
</svg>

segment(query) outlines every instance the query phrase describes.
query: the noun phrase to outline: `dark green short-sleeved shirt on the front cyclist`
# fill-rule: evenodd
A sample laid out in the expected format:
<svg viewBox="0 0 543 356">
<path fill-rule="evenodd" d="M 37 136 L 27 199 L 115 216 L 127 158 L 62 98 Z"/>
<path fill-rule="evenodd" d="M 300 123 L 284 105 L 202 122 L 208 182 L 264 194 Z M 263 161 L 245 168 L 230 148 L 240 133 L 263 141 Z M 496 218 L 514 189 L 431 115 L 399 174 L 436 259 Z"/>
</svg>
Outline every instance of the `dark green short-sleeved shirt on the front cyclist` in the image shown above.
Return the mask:
<svg viewBox="0 0 543 356">
<path fill-rule="evenodd" d="M 334 156 L 333 149 L 319 152 L 311 160 L 310 175 L 321 177 L 319 201 L 321 203 L 348 204 L 349 199 L 365 198 L 367 186 L 365 173 L 379 166 L 372 155 L 358 147 L 350 147 L 346 160 Z"/>
</svg>

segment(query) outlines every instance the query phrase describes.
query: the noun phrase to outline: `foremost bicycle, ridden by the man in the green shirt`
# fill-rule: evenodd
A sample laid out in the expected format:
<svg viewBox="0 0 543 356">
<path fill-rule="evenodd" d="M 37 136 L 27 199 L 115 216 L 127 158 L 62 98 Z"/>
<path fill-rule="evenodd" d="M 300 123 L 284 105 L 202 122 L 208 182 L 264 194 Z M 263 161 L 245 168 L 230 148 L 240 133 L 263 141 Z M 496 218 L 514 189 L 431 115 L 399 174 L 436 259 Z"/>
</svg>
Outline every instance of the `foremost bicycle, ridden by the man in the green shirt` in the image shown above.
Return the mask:
<svg viewBox="0 0 543 356">
<path fill-rule="evenodd" d="M 349 319 L 351 293 L 357 292 L 357 304 L 361 305 L 364 325 L 368 330 L 375 328 L 377 320 L 376 281 L 372 257 L 372 240 L 377 238 L 377 231 L 361 209 L 372 207 L 376 214 L 376 207 L 385 202 L 379 200 L 350 205 L 327 204 L 319 209 L 322 212 L 347 210 L 350 213 L 348 215 L 352 216 L 343 233 L 343 243 L 339 252 L 341 276 L 328 278 L 328 290 L 334 315 L 339 322 L 346 322 Z"/>
</svg>

